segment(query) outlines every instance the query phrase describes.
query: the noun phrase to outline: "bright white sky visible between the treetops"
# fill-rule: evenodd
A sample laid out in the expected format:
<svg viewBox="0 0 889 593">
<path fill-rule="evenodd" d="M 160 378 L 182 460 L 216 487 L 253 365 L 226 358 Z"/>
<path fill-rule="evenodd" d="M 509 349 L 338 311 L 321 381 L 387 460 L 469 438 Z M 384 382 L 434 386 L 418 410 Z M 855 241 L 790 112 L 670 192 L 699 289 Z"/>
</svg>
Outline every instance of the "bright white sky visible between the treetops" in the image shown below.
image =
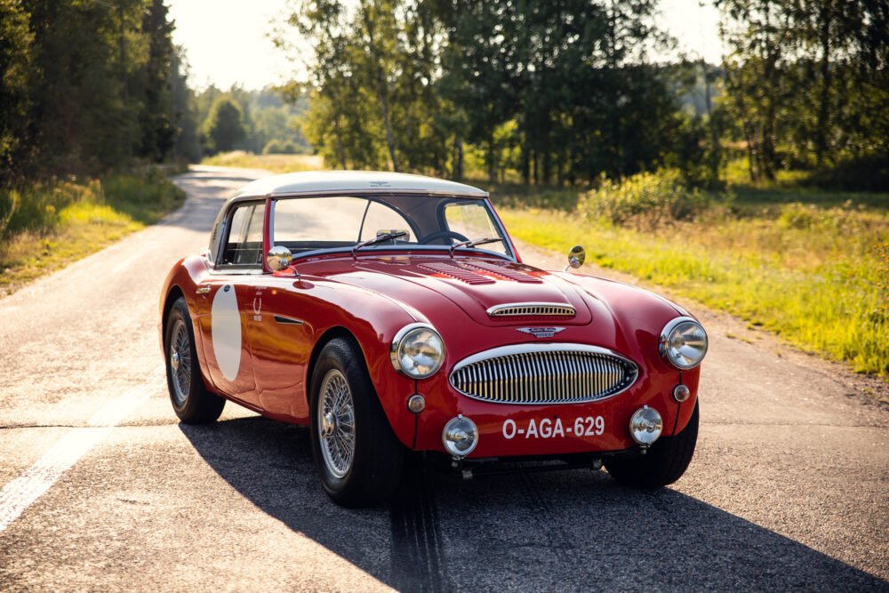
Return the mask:
<svg viewBox="0 0 889 593">
<path fill-rule="evenodd" d="M 241 84 L 260 89 L 292 78 L 298 66 L 268 39 L 275 23 L 284 22 L 286 0 L 168 0 L 176 21 L 173 42 L 185 48 L 190 82 L 228 89 Z M 661 28 L 681 48 L 710 63 L 721 59 L 718 12 L 699 0 L 661 0 Z"/>
</svg>

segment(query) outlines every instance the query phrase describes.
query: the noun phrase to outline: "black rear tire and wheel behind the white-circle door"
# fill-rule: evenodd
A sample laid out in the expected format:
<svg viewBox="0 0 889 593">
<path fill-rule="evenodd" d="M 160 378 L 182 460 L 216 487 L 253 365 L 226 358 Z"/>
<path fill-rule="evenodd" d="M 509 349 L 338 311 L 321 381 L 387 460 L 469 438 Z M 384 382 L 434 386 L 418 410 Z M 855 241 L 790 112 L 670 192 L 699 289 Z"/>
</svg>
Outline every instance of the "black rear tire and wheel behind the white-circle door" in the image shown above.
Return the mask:
<svg viewBox="0 0 889 593">
<path fill-rule="evenodd" d="M 170 403 L 180 421 L 186 424 L 216 421 L 225 407 L 225 399 L 204 385 L 195 349 L 195 331 L 182 297 L 173 302 L 167 315 L 164 358 Z"/>
</svg>

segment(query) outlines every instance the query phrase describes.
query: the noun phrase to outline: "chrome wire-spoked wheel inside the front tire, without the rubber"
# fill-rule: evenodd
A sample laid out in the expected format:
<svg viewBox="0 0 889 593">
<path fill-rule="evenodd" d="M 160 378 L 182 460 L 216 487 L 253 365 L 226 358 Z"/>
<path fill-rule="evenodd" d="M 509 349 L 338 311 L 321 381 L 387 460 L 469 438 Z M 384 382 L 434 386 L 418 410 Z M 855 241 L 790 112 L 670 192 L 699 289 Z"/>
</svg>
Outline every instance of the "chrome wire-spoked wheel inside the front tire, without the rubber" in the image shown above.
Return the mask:
<svg viewBox="0 0 889 593">
<path fill-rule="evenodd" d="M 324 466 L 333 477 L 345 477 L 355 458 L 355 404 L 337 369 L 324 375 L 316 421 Z"/>
</svg>

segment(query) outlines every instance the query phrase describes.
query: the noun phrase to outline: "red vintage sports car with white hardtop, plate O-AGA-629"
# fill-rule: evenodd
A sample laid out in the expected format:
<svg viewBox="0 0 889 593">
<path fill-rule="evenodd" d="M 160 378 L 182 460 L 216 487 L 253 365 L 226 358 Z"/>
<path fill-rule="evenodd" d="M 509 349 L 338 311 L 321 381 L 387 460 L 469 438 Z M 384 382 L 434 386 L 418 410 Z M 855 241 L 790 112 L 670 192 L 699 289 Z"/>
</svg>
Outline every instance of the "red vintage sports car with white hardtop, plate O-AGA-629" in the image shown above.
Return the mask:
<svg viewBox="0 0 889 593">
<path fill-rule="evenodd" d="M 487 193 L 460 183 L 254 181 L 161 291 L 172 407 L 212 422 L 228 399 L 308 426 L 346 506 L 386 501 L 408 452 L 463 477 L 605 464 L 670 484 L 697 440 L 707 334 L 651 292 L 569 271 L 582 261 L 526 265 Z"/>
</svg>

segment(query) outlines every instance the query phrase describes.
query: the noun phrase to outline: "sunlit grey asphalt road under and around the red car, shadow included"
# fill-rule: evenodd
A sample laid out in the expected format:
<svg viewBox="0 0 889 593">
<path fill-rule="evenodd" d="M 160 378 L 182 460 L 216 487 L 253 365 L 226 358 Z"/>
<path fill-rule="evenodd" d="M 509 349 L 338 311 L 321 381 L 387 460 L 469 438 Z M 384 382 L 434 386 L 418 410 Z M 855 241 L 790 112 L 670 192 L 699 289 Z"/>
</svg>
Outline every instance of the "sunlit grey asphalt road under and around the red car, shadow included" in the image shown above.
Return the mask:
<svg viewBox="0 0 889 593">
<path fill-rule="evenodd" d="M 163 224 L 0 300 L 0 590 L 889 591 L 889 411 L 862 394 L 885 383 L 700 308 L 698 450 L 657 493 L 414 469 L 344 510 L 305 429 L 231 404 L 181 425 L 158 291 L 255 175 L 185 175 Z"/>
</svg>

